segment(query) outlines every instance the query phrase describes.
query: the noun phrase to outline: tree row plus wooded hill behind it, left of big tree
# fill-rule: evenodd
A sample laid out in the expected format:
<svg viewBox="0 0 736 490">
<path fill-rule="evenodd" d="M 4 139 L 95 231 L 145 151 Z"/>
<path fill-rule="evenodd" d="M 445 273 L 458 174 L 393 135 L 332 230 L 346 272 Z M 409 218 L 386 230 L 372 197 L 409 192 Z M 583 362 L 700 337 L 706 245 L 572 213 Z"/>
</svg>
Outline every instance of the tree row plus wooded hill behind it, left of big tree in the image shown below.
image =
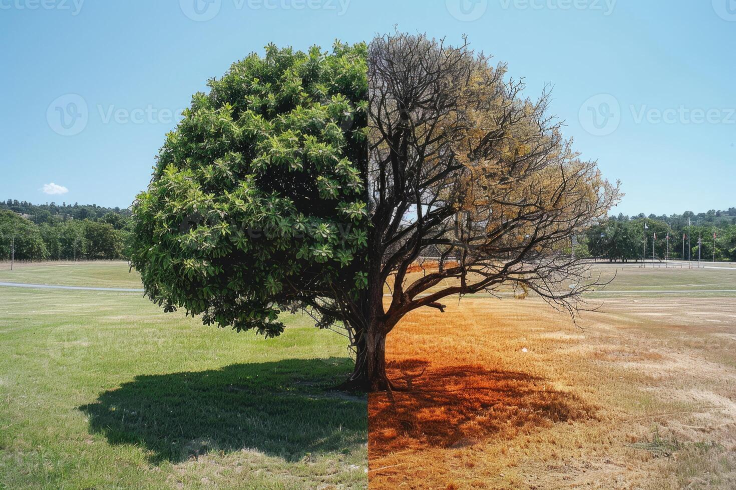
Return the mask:
<svg viewBox="0 0 736 490">
<path fill-rule="evenodd" d="M 0 260 L 124 259 L 130 211 L 78 204 L 0 201 Z"/>
</svg>

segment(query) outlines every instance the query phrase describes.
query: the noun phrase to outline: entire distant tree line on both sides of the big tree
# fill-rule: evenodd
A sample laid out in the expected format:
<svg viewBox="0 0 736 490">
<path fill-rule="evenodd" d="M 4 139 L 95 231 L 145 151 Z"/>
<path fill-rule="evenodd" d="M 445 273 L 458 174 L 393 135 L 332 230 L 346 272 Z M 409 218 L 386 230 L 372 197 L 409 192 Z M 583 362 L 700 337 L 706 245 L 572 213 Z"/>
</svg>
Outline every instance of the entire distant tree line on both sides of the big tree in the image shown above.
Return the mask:
<svg viewBox="0 0 736 490">
<path fill-rule="evenodd" d="M 644 224 L 648 227 L 646 247 Z M 77 259 L 125 259 L 131 231 L 130 209 L 0 201 L 0 260 L 10 259 L 13 237 L 16 260 L 71 260 L 75 250 Z M 669 216 L 611 216 L 576 237 L 567 253 L 574 249 L 576 256 L 600 257 L 611 262 L 638 262 L 644 256 L 647 260 L 653 256 L 657 260 L 682 259 L 683 254 L 687 260 L 688 233 L 691 259 L 698 259 L 698 236 L 702 239 L 701 259 L 713 259 L 715 233 L 715 260 L 736 262 L 736 208 Z"/>
</svg>

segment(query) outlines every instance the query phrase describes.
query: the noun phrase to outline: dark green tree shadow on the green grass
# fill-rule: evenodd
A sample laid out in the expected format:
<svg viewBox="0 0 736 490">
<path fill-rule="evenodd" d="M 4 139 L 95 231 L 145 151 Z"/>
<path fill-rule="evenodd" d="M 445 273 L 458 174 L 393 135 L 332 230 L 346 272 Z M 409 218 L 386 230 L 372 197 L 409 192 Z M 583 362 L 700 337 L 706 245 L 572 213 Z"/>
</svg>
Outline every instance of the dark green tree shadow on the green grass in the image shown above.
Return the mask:
<svg viewBox="0 0 736 490">
<path fill-rule="evenodd" d="M 91 432 L 144 447 L 152 463 L 244 448 L 297 461 L 365 444 L 365 399 L 329 391 L 352 368 L 350 359 L 287 359 L 140 375 L 79 410 Z"/>
</svg>

